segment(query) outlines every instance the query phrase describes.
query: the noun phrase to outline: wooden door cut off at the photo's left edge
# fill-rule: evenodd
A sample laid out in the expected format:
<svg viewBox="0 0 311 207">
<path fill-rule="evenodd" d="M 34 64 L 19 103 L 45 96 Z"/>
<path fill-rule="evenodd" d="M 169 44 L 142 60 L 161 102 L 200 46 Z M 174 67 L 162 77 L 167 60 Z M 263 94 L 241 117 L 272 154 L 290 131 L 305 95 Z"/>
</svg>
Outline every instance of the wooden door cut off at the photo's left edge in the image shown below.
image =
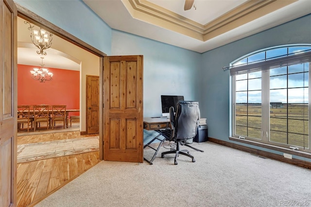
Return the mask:
<svg viewBox="0 0 311 207">
<path fill-rule="evenodd" d="M 17 8 L 0 0 L 0 206 L 17 206 Z"/>
</svg>

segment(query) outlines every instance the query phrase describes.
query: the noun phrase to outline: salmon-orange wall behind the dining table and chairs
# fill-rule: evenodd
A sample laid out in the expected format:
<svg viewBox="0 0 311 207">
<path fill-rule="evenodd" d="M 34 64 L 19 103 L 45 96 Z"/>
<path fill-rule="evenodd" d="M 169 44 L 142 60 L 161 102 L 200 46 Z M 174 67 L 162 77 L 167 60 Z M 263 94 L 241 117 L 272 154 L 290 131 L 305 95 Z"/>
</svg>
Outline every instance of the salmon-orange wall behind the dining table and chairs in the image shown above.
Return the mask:
<svg viewBox="0 0 311 207">
<path fill-rule="evenodd" d="M 53 73 L 53 80 L 40 83 L 31 78 L 33 68 L 37 66 L 17 65 L 18 105 L 66 104 L 67 109 L 79 109 L 80 71 L 47 68 Z"/>
</svg>

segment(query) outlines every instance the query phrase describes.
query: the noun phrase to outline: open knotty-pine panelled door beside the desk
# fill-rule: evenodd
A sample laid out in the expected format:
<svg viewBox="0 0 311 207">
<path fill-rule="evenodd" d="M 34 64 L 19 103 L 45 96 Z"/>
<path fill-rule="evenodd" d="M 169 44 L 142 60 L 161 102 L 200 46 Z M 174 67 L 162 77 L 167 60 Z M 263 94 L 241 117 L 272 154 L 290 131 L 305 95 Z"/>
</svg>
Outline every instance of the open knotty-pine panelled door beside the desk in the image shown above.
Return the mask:
<svg viewBox="0 0 311 207">
<path fill-rule="evenodd" d="M 143 162 L 143 56 L 104 57 L 104 160 Z"/>
</svg>

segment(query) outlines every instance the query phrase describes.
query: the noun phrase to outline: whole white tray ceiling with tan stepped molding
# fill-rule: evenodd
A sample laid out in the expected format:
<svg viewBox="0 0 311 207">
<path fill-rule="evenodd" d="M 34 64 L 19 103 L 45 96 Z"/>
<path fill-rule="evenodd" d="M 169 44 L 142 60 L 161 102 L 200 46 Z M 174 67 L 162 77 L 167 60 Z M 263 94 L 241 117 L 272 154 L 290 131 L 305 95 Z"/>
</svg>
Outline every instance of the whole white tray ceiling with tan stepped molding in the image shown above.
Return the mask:
<svg viewBox="0 0 311 207">
<path fill-rule="evenodd" d="M 84 0 L 111 28 L 206 52 L 311 13 L 310 0 Z"/>
</svg>

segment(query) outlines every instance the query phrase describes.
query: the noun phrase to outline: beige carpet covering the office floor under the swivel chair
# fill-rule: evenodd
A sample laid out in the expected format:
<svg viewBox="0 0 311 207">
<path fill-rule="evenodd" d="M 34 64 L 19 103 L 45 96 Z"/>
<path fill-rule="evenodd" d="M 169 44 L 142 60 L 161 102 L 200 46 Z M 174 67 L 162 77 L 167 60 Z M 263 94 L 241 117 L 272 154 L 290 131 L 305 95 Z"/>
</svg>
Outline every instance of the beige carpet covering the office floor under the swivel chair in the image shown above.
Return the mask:
<svg viewBox="0 0 311 207">
<path fill-rule="evenodd" d="M 212 142 L 193 145 L 204 150 L 191 150 L 196 162 L 179 155 L 174 165 L 173 155 L 160 153 L 153 165 L 102 161 L 36 207 L 311 206 L 311 170 Z"/>
</svg>

